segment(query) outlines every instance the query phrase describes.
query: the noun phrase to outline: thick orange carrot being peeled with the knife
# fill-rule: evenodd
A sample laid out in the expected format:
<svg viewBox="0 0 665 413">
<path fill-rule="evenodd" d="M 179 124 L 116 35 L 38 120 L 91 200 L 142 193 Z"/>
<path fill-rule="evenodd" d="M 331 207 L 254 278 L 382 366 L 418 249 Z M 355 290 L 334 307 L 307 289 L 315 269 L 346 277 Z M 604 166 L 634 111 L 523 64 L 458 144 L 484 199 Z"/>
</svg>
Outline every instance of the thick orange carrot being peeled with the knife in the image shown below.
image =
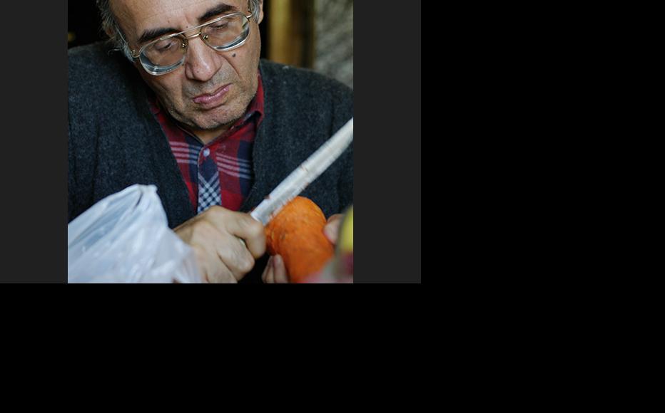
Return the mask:
<svg viewBox="0 0 665 413">
<path fill-rule="evenodd" d="M 317 273 L 334 255 L 332 244 L 323 235 L 325 224 L 317 204 L 296 197 L 265 227 L 268 253 L 284 258 L 290 282 L 299 283 Z"/>
</svg>

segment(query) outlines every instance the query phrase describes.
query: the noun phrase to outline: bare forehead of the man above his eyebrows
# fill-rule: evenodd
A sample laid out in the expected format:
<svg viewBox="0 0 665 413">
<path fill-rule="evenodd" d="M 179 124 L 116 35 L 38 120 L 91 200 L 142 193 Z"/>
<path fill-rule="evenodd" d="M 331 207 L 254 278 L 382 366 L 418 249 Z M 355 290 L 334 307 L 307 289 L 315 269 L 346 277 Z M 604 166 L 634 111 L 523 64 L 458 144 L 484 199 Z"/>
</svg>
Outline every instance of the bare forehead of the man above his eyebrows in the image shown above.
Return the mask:
<svg viewBox="0 0 665 413">
<path fill-rule="evenodd" d="M 126 29 L 143 31 L 146 28 L 162 26 L 186 26 L 197 23 L 199 16 L 206 11 L 228 4 L 236 9 L 245 10 L 243 0 L 115 0 L 112 2 L 113 14 L 118 23 Z"/>
</svg>

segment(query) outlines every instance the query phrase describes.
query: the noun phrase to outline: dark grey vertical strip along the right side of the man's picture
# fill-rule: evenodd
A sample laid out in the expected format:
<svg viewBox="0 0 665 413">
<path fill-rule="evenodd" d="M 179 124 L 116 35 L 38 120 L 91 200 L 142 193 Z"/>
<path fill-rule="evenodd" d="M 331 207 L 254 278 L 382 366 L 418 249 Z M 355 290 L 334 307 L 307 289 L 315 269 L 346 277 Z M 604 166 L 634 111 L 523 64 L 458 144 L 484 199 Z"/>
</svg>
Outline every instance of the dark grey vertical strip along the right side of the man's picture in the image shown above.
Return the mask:
<svg viewBox="0 0 665 413">
<path fill-rule="evenodd" d="M 420 283 L 420 1 L 395 36 L 404 5 L 354 3 L 355 283 Z"/>
</svg>

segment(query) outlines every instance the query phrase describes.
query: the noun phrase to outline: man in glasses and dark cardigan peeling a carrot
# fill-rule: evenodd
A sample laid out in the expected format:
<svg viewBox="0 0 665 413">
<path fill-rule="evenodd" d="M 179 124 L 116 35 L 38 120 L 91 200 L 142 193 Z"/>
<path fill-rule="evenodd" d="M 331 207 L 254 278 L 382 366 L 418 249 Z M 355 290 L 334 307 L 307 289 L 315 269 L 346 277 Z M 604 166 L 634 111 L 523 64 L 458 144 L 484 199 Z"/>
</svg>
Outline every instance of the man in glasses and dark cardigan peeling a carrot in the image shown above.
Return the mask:
<svg viewBox="0 0 665 413">
<path fill-rule="evenodd" d="M 247 212 L 352 117 L 352 91 L 260 61 L 263 1 L 97 3 L 115 47 L 68 53 L 69 221 L 155 184 L 205 281 L 258 276 L 265 235 Z M 332 216 L 333 241 L 352 174 L 350 148 L 303 192 Z M 270 262 L 263 281 L 285 282 L 283 261 Z"/>
</svg>

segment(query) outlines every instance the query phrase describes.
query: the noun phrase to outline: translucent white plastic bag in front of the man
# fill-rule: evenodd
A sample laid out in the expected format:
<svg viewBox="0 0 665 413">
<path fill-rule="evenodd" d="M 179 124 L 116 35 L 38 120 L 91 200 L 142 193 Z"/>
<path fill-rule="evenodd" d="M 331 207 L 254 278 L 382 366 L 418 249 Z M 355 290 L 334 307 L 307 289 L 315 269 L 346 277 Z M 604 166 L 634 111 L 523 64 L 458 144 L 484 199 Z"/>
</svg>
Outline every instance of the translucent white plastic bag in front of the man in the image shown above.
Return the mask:
<svg viewBox="0 0 665 413">
<path fill-rule="evenodd" d="M 200 283 L 192 249 L 168 228 L 154 185 L 132 185 L 67 226 L 70 283 Z"/>
</svg>

